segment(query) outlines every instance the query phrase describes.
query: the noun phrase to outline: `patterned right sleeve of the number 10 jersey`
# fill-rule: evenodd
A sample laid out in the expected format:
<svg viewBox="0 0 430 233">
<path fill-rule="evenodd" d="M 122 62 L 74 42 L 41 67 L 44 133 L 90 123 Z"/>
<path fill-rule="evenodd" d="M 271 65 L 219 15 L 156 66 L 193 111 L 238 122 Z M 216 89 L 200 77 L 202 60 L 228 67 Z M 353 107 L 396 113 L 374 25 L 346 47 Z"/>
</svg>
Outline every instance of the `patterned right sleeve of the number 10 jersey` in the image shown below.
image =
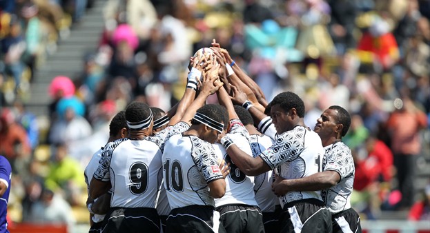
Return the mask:
<svg viewBox="0 0 430 233">
<path fill-rule="evenodd" d="M 192 140 L 199 140 L 197 138 Z M 192 154 L 195 164 L 198 169 L 202 172 L 206 182 L 215 181 L 217 179 L 224 179 L 222 176 L 221 169 L 219 169 L 217 163 L 217 155 L 211 143 L 202 141 L 202 147 L 194 147 Z"/>
</svg>

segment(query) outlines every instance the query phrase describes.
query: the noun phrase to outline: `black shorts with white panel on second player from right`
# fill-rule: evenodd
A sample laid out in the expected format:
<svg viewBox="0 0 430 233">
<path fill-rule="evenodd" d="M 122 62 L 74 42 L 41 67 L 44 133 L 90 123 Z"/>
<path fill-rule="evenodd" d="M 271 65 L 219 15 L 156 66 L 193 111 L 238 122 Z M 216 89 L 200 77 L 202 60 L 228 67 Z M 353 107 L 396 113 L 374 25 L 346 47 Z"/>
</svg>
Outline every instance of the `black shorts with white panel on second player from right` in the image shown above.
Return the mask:
<svg viewBox="0 0 430 233">
<path fill-rule="evenodd" d="M 280 232 L 331 233 L 331 213 L 318 199 L 304 199 L 284 205 Z"/>
</svg>

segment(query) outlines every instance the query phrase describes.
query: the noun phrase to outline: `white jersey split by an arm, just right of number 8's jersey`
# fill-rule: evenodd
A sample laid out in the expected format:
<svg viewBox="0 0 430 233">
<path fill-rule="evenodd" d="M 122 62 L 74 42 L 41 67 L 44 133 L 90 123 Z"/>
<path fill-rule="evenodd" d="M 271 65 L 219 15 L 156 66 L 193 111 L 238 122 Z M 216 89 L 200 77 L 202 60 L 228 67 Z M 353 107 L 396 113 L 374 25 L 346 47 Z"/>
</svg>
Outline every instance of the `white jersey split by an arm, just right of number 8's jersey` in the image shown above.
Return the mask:
<svg viewBox="0 0 430 233">
<path fill-rule="evenodd" d="M 249 143 L 251 144 L 253 156 L 256 157 L 267 148 L 270 148 L 273 145 L 273 140 L 265 134 L 261 136 L 252 134 L 249 136 Z M 275 205 L 279 204 L 279 202 L 276 202 L 277 196 L 272 191 L 272 183 L 273 170 L 254 177 L 255 201 L 257 201 L 262 212 L 274 212 Z"/>
</svg>

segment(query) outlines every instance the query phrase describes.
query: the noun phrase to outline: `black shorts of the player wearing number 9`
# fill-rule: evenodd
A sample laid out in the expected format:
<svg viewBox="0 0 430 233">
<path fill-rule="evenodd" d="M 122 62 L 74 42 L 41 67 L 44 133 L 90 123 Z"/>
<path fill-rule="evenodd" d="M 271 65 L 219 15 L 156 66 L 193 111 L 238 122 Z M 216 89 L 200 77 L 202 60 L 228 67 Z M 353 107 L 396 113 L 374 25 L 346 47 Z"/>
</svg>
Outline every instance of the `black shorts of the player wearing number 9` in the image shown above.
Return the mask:
<svg viewBox="0 0 430 233">
<path fill-rule="evenodd" d="M 155 208 L 121 208 L 111 207 L 103 233 L 122 232 L 160 232 L 161 224 Z M 106 220 L 106 218 L 105 218 Z"/>
</svg>

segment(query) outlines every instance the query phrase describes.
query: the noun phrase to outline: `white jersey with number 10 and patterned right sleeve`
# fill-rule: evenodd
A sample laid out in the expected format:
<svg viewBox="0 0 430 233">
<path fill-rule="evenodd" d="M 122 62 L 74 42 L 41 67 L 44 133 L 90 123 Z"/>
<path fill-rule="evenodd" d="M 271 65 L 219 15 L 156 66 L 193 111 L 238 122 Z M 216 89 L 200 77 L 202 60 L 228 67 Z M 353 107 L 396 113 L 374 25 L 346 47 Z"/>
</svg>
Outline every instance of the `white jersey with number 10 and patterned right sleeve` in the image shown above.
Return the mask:
<svg viewBox="0 0 430 233">
<path fill-rule="evenodd" d="M 208 182 L 224 179 L 211 143 L 176 134 L 164 145 L 163 179 L 170 208 L 212 205 Z"/>
</svg>

